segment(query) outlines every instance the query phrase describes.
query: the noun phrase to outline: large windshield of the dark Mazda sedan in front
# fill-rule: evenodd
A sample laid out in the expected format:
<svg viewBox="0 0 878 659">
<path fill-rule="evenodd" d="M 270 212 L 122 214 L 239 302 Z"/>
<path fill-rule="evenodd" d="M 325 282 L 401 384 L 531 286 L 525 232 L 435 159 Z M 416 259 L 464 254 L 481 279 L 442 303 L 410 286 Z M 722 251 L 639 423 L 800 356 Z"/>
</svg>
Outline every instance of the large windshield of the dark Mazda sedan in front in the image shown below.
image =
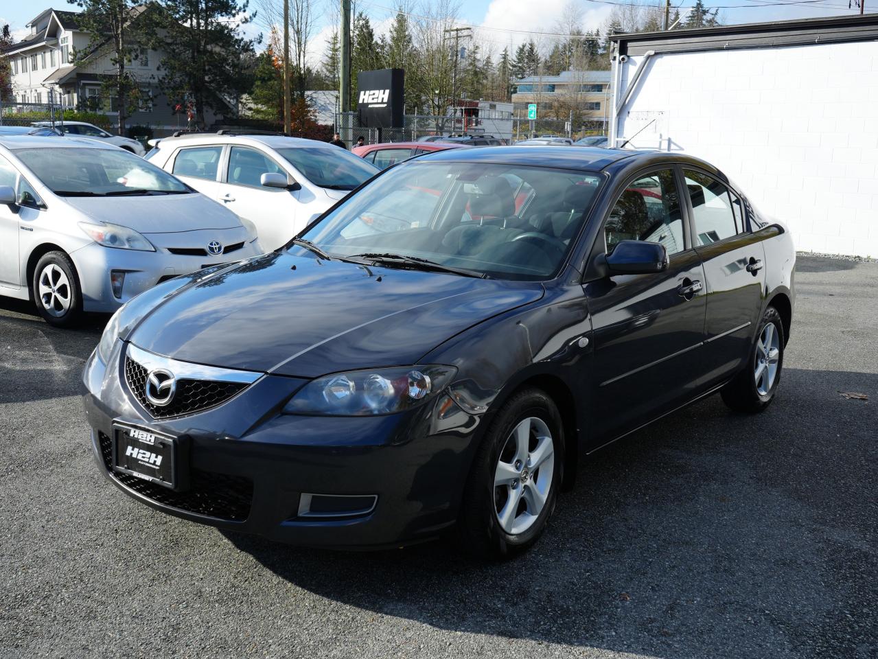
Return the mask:
<svg viewBox="0 0 878 659">
<path fill-rule="evenodd" d="M 348 197 L 302 237 L 330 256 L 393 254 L 500 279 L 543 280 L 563 263 L 600 182 L 568 169 L 410 161 Z"/>
</svg>

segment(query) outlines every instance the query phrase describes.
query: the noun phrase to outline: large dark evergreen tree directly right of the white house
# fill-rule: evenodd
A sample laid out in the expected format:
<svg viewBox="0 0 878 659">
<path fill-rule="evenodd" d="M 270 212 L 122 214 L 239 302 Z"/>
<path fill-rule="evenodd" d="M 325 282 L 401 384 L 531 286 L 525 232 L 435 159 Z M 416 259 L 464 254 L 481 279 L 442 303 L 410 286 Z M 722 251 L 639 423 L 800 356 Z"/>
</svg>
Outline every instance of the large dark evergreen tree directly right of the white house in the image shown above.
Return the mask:
<svg viewBox="0 0 878 659">
<path fill-rule="evenodd" d="M 162 2 L 162 90 L 190 100 L 198 124 L 205 125 L 206 109 L 227 111 L 252 87 L 246 58 L 258 39 L 241 36 L 241 25 L 252 18 L 247 0 Z"/>
</svg>

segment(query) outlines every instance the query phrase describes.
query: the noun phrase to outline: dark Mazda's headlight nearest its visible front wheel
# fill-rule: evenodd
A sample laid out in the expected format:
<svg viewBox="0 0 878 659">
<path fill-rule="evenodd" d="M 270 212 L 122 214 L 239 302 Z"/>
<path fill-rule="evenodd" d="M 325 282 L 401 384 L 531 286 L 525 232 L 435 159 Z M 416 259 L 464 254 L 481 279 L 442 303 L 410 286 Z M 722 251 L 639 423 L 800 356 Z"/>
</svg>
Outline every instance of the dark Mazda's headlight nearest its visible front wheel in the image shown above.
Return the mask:
<svg viewBox="0 0 878 659">
<path fill-rule="evenodd" d="M 442 391 L 453 366 L 407 366 L 332 373 L 307 383 L 284 406 L 286 414 L 370 416 L 402 412 Z"/>
</svg>

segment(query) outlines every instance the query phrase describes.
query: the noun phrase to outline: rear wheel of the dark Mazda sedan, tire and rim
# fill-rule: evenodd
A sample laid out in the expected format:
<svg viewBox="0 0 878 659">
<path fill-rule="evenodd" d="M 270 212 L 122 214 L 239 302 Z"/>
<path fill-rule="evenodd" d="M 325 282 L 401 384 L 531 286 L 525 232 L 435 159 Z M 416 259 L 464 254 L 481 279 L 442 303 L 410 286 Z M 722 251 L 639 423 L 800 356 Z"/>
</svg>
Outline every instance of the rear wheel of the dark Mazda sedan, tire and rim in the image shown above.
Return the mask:
<svg viewBox="0 0 878 659">
<path fill-rule="evenodd" d="M 720 391 L 723 402 L 736 412 L 765 410 L 781 383 L 783 348 L 781 314 L 769 306 L 762 316 L 745 368 Z"/>
</svg>

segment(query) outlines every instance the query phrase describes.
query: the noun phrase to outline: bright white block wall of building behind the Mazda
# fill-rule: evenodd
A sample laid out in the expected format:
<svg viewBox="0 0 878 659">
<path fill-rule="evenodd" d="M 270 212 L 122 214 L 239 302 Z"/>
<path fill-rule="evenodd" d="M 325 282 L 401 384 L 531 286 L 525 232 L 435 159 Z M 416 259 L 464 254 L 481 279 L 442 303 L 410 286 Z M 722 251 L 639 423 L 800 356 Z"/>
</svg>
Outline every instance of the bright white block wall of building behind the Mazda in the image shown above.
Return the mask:
<svg viewBox="0 0 878 659">
<path fill-rule="evenodd" d="M 716 165 L 798 249 L 878 257 L 878 41 L 654 55 L 617 134 L 652 119 L 630 145 Z"/>
</svg>

